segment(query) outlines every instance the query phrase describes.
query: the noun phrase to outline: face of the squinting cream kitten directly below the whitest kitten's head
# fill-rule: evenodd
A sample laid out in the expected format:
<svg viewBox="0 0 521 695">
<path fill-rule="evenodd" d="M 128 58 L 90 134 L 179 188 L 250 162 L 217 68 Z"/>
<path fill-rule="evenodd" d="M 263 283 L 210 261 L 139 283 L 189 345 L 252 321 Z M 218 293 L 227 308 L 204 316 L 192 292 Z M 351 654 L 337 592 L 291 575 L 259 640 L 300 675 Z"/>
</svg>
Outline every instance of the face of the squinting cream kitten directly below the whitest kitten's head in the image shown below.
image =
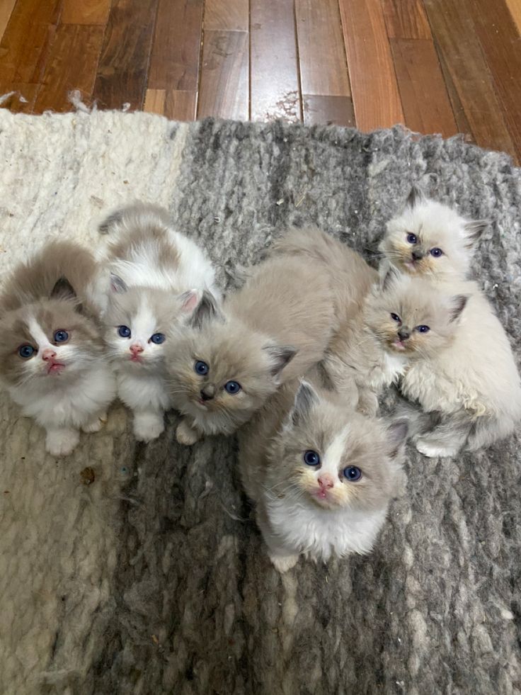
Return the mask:
<svg viewBox="0 0 521 695">
<path fill-rule="evenodd" d="M 466 300 L 391 269 L 367 300 L 365 324 L 391 354 L 428 356 L 450 344 Z"/>
</svg>

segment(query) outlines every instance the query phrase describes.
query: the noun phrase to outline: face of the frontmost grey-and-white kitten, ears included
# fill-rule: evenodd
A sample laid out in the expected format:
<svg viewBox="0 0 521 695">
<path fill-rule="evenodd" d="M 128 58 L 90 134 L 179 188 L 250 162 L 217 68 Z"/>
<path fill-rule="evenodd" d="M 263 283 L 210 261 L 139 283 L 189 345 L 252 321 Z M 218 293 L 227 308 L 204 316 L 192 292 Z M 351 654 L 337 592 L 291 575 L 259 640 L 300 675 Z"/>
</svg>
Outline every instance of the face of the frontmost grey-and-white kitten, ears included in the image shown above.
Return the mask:
<svg viewBox="0 0 521 695">
<path fill-rule="evenodd" d="M 357 412 L 345 413 L 303 382 L 281 433 L 268 489 L 305 499 L 322 509 L 374 511 L 387 505 L 403 485 L 399 457 L 407 427 L 388 429 Z M 290 485 L 281 492 L 278 480 Z"/>
</svg>

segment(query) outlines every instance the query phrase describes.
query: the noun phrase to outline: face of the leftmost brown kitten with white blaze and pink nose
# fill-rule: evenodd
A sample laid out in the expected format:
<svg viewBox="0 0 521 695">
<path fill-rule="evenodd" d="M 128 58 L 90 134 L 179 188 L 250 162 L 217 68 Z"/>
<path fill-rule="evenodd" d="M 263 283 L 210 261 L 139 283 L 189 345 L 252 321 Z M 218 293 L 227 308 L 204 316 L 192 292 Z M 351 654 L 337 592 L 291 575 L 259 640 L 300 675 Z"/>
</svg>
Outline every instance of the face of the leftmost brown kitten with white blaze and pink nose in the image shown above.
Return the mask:
<svg viewBox="0 0 521 695">
<path fill-rule="evenodd" d="M 103 355 L 96 325 L 76 303 L 49 299 L 6 312 L 0 321 L 0 376 L 7 385 L 57 386 Z"/>
</svg>

